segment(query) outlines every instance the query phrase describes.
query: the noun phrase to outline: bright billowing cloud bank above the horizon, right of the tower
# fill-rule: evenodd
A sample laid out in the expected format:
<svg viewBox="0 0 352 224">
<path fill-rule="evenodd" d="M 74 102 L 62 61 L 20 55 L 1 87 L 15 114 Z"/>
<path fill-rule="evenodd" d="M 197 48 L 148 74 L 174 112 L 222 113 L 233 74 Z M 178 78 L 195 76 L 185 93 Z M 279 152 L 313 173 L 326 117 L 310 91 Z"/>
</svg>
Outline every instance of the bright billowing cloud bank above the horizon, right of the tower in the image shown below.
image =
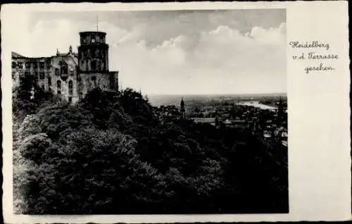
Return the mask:
<svg viewBox="0 0 352 224">
<path fill-rule="evenodd" d="M 122 82 L 138 85 L 146 92 L 286 92 L 282 26 L 255 27 L 251 35 L 219 26 L 202 32 L 191 51 L 185 50 L 184 45 L 193 39 L 180 35 L 152 49 L 143 42 L 139 47 L 116 49 L 113 54 L 124 55 L 117 60 L 124 70 Z"/>
</svg>

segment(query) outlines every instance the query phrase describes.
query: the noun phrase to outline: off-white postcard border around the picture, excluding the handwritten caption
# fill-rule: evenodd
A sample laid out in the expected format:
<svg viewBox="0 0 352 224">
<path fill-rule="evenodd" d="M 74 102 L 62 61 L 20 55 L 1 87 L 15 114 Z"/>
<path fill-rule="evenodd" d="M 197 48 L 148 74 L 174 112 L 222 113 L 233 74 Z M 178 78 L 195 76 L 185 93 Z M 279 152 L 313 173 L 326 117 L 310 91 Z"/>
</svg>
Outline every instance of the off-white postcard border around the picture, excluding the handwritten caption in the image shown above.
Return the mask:
<svg viewBox="0 0 352 224">
<path fill-rule="evenodd" d="M 340 56 L 336 72 L 306 75 L 287 46 L 289 214 L 172 216 L 13 216 L 11 39 L 16 17 L 29 11 L 137 11 L 287 8 L 287 39 L 322 39 Z M 1 7 L 4 221 L 6 223 L 175 223 L 351 219 L 351 158 L 346 1 L 190 2 L 139 4 L 9 4 Z"/>
</svg>

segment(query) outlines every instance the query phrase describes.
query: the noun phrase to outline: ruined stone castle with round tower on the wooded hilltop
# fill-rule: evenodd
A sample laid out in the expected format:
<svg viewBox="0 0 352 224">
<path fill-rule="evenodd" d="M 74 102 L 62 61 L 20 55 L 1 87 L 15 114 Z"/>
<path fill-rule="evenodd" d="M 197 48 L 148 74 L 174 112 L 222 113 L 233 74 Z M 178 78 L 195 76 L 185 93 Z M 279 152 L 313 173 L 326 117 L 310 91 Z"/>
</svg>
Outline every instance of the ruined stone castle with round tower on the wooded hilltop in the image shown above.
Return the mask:
<svg viewBox="0 0 352 224">
<path fill-rule="evenodd" d="M 106 32 L 80 32 L 78 53 L 29 58 L 12 52 L 12 80 L 18 86 L 32 77 L 37 86 L 75 103 L 94 88 L 118 91 L 118 71 L 108 69 Z"/>
</svg>

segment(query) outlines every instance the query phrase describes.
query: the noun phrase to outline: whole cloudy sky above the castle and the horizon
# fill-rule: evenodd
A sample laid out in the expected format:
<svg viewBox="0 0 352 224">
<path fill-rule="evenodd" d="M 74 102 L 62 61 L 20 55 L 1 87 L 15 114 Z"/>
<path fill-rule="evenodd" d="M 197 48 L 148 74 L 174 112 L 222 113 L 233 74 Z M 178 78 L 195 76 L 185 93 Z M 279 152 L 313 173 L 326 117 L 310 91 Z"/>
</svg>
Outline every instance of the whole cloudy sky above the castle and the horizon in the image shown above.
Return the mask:
<svg viewBox="0 0 352 224">
<path fill-rule="evenodd" d="M 145 94 L 287 92 L 284 9 L 36 12 L 17 23 L 23 56 L 77 51 L 79 32 L 98 24 L 120 85 Z"/>
</svg>

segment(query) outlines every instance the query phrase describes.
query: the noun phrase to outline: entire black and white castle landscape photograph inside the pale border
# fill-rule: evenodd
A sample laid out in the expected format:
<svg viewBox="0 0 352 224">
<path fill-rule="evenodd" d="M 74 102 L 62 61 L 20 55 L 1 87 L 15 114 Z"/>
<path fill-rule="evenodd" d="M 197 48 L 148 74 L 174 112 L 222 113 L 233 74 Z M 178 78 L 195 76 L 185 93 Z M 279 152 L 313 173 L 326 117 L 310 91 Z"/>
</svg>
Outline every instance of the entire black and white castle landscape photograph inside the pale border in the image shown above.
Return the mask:
<svg viewBox="0 0 352 224">
<path fill-rule="evenodd" d="M 28 13 L 13 213 L 289 213 L 286 13 Z"/>
</svg>

